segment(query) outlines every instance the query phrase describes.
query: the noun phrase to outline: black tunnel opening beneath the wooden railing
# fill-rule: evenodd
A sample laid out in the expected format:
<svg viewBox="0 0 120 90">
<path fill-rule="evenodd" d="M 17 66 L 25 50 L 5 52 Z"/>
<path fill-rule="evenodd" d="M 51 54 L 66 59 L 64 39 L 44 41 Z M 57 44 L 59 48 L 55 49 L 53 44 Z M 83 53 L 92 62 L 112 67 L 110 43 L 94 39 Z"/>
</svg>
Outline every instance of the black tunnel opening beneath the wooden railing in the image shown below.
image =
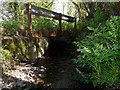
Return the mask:
<svg viewBox="0 0 120 90">
<path fill-rule="evenodd" d="M 69 39 L 65 37 L 50 37 L 48 43 L 45 56 L 62 57 L 70 55 L 72 43 Z"/>
</svg>

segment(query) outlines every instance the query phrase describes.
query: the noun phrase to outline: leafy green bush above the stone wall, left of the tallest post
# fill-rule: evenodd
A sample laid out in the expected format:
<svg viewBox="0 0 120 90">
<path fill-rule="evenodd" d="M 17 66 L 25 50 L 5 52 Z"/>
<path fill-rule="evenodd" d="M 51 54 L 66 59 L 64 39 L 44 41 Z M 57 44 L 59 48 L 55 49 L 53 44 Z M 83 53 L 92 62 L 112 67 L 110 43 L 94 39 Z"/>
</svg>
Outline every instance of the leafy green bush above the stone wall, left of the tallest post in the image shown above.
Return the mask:
<svg viewBox="0 0 120 90">
<path fill-rule="evenodd" d="M 21 26 L 25 29 L 27 25 L 27 18 L 22 17 L 21 19 L 13 19 L 13 20 L 4 20 L 2 22 L 2 26 L 4 28 L 3 35 L 7 34 L 9 36 L 16 35 L 16 32 L 21 32 Z"/>
</svg>

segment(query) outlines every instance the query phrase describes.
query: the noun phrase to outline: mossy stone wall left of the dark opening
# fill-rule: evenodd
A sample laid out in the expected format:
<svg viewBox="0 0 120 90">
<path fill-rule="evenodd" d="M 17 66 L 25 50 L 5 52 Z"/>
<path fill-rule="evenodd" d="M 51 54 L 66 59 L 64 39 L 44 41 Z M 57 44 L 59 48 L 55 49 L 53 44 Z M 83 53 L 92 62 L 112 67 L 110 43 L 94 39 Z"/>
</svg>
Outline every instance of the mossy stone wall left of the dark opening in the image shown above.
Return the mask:
<svg viewBox="0 0 120 90">
<path fill-rule="evenodd" d="M 2 46 L 19 60 L 33 60 L 44 54 L 48 42 L 43 37 L 4 36 Z"/>
</svg>

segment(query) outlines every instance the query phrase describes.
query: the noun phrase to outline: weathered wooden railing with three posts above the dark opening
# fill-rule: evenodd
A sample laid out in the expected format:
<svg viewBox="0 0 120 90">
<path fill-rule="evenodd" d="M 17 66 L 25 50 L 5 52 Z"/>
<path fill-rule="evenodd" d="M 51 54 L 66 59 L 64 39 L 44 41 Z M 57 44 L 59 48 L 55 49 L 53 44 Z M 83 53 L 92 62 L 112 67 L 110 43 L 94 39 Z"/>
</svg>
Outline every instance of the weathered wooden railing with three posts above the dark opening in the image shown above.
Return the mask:
<svg viewBox="0 0 120 90">
<path fill-rule="evenodd" d="M 76 30 L 76 18 L 67 16 L 61 13 L 57 13 L 51 10 L 47 10 L 44 8 L 40 8 L 34 5 L 31 5 L 30 3 L 24 5 L 26 10 L 24 11 L 24 14 L 27 14 L 28 17 L 28 33 L 29 35 L 32 34 L 32 18 L 31 15 L 35 15 L 37 17 L 46 17 L 46 18 L 52 18 L 54 20 L 59 21 L 59 30 L 58 34 L 60 35 L 62 32 L 62 20 L 74 23 L 74 30 Z"/>
</svg>

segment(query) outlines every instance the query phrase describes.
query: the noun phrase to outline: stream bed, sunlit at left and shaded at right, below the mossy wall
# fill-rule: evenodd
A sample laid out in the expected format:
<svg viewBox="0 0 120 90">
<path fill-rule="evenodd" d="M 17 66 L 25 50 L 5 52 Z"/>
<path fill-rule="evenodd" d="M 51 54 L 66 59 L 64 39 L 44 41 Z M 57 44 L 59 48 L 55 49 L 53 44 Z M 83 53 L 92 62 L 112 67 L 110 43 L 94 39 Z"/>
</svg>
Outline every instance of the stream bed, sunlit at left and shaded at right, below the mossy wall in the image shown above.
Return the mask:
<svg viewBox="0 0 120 90">
<path fill-rule="evenodd" d="M 74 68 L 69 57 L 37 59 L 15 65 L 13 70 L 5 72 L 2 87 L 8 90 L 73 88 L 73 73 Z"/>
</svg>

